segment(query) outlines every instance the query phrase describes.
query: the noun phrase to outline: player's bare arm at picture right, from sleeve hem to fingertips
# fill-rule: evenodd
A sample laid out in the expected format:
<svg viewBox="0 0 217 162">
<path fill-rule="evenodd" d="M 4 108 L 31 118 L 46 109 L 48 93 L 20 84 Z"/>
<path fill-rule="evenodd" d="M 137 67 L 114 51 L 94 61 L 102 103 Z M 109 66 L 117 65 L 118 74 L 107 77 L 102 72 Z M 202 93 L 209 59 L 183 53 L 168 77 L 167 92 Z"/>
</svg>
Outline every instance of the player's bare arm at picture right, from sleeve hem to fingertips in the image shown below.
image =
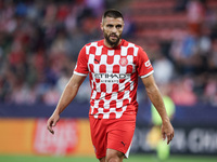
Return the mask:
<svg viewBox="0 0 217 162">
<path fill-rule="evenodd" d="M 166 113 L 165 105 L 161 95 L 161 92 L 154 81 L 153 75 L 149 77 L 142 78 L 142 82 L 145 86 L 148 96 L 154 107 L 156 108 L 157 112 L 162 118 L 162 135 L 165 139 L 167 137 L 167 144 L 174 138 L 174 127 L 170 123 L 170 120 Z"/>
</svg>

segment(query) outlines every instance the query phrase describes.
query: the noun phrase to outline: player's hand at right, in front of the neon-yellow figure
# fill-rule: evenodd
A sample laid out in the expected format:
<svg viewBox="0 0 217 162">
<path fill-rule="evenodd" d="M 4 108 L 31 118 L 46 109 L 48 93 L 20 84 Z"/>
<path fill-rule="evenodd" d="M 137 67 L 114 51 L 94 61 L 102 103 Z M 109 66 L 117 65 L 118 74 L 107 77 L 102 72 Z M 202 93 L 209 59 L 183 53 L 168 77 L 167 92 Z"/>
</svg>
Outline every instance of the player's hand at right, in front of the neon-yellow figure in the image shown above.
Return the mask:
<svg viewBox="0 0 217 162">
<path fill-rule="evenodd" d="M 165 140 L 167 137 L 167 145 L 174 138 L 174 127 L 171 126 L 171 123 L 169 121 L 162 123 L 162 136 Z"/>
</svg>

